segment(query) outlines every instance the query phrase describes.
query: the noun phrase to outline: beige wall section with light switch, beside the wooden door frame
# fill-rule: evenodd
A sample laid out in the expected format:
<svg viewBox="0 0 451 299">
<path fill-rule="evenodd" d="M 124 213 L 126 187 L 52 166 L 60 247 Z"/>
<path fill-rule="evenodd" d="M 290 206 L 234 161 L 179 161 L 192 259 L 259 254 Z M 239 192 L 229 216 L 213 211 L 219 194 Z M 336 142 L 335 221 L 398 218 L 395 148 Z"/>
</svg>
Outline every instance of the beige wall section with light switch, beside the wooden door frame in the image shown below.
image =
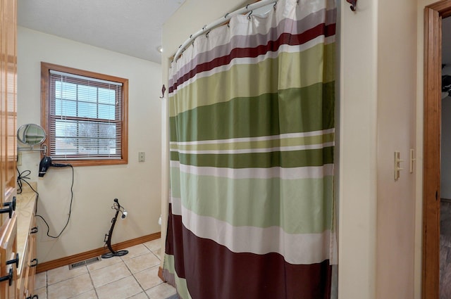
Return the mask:
<svg viewBox="0 0 451 299">
<path fill-rule="evenodd" d="M 389 9 L 386 9 L 389 8 Z M 400 18 L 402 15 L 402 18 Z M 378 1 L 377 298 L 414 298 L 416 3 Z M 394 179 L 394 152 L 403 168 Z"/>
</svg>

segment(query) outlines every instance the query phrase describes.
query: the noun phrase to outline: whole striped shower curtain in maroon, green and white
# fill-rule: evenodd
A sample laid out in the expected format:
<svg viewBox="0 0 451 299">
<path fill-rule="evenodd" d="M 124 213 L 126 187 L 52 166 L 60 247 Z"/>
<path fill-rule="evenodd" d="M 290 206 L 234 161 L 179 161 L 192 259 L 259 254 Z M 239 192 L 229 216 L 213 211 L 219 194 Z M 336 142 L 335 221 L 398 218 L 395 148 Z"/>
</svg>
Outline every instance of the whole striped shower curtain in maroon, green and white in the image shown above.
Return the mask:
<svg viewBox="0 0 451 299">
<path fill-rule="evenodd" d="M 163 277 L 183 299 L 336 298 L 333 0 L 279 0 L 171 65 Z"/>
</svg>

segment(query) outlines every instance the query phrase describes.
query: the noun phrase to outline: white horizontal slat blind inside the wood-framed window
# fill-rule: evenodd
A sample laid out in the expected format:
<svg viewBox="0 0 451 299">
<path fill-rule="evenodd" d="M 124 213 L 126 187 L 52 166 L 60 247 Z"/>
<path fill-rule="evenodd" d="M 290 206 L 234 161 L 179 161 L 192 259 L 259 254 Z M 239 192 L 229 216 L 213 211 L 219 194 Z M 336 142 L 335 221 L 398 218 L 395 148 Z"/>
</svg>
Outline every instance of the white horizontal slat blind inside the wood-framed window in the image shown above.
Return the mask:
<svg viewBox="0 0 451 299">
<path fill-rule="evenodd" d="M 50 70 L 49 92 L 54 160 L 121 158 L 121 82 Z"/>
</svg>

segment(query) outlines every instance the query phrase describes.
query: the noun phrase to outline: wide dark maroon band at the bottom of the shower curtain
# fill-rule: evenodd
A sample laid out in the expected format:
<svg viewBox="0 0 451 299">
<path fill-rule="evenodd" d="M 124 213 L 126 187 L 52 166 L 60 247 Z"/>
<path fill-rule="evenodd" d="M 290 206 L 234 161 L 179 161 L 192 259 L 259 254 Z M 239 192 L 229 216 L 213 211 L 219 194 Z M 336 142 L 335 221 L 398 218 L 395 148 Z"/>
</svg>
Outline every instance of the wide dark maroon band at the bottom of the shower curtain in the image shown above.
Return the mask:
<svg viewBox="0 0 451 299">
<path fill-rule="evenodd" d="M 292 265 L 278 253 L 234 253 L 195 236 L 171 210 L 168 224 L 166 254 L 174 255 L 175 271 L 186 279 L 193 299 L 330 298 L 328 260 Z"/>
</svg>

